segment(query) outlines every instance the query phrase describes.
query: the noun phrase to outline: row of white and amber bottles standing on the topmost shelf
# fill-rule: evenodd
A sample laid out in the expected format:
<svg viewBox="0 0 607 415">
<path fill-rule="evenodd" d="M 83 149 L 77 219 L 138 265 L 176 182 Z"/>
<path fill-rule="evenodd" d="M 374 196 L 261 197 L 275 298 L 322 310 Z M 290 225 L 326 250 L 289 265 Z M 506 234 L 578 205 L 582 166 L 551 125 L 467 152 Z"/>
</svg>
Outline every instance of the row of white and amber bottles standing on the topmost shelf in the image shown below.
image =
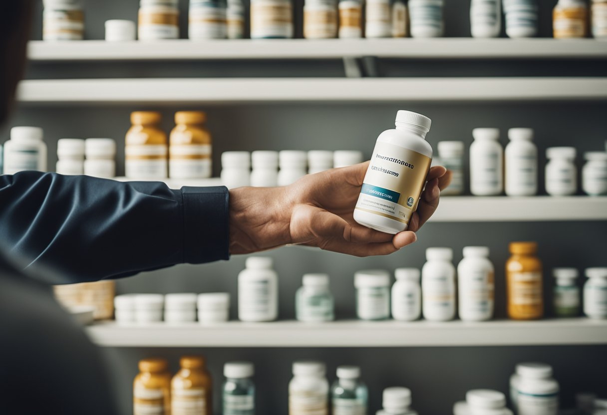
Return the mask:
<svg viewBox="0 0 607 415">
<path fill-rule="evenodd" d="M 555 38 L 607 37 L 607 0 L 559 0 L 554 8 Z M 436 38 L 444 35 L 444 0 L 305 0 L 304 38 Z M 537 0 L 504 0 L 506 34 L 529 38 L 538 32 Z M 190 0 L 190 39 L 245 37 L 247 10 L 242 0 Z M 501 33 L 501 0 L 472 0 L 470 32 L 475 38 Z M 251 0 L 251 38 L 293 38 L 292 0 Z M 590 29 L 592 27 L 592 30 Z M 178 0 L 141 0 L 138 27 L 129 20 L 106 21 L 107 41 L 142 41 L 180 37 Z M 84 38 L 80 0 L 44 0 L 42 38 Z"/>
</svg>

